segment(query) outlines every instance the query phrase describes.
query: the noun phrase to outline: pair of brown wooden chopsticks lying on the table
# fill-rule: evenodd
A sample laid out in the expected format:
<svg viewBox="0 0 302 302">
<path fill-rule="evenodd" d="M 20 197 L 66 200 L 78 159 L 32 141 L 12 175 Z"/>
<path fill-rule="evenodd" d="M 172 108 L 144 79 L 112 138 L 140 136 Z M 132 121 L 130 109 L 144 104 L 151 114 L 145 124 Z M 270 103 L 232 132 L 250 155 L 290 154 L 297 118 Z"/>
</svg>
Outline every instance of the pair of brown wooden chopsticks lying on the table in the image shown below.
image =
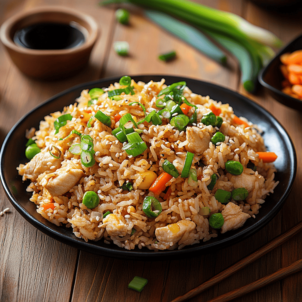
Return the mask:
<svg viewBox="0 0 302 302">
<path fill-rule="evenodd" d="M 266 243 L 264 246 L 260 247 L 259 249 L 255 250 L 255 252 L 252 252 L 248 256 L 246 256 L 243 259 L 240 259 L 233 265 L 229 266 L 225 270 L 221 271 L 214 277 L 208 279 L 204 283 L 198 285 L 196 288 L 191 289 L 191 291 L 188 291 L 182 296 L 179 296 L 175 298 L 174 300 L 170 302 L 182 302 L 186 301 L 190 298 L 193 298 L 200 294 L 201 292 L 207 290 L 208 288 L 214 286 L 215 284 L 218 284 L 222 280 L 230 277 L 240 269 L 246 267 L 247 265 L 251 264 L 255 260 L 259 259 L 263 255 L 267 254 L 271 250 L 275 249 L 277 246 L 281 245 L 282 243 L 286 242 L 288 239 L 290 239 L 292 236 L 297 234 L 300 230 L 302 230 L 302 221 L 291 227 L 286 232 L 280 234 L 279 236 L 275 237 L 268 243 Z M 266 275 L 263 278 L 260 278 L 259 280 L 253 281 L 249 284 L 246 284 L 240 288 L 236 288 L 233 291 L 230 291 L 226 294 L 223 294 L 219 297 L 216 297 L 212 300 L 209 300 L 207 302 L 225 302 L 233 300 L 237 297 L 243 296 L 251 291 L 254 291 L 256 289 L 262 288 L 272 282 L 281 280 L 285 278 L 286 276 L 289 276 L 291 274 L 294 274 L 298 271 L 302 270 L 302 259 L 287 265 L 283 268 L 280 268 L 278 271 L 275 271 L 274 273 L 270 275 Z"/>
</svg>

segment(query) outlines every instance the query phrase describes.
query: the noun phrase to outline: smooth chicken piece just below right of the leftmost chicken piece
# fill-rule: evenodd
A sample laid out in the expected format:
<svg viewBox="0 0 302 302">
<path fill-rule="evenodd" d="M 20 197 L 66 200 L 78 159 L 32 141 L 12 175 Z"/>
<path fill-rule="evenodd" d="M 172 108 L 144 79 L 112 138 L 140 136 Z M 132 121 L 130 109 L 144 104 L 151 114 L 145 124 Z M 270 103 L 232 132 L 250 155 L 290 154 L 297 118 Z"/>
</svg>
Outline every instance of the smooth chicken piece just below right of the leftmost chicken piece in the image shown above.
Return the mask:
<svg viewBox="0 0 302 302">
<path fill-rule="evenodd" d="M 42 185 L 51 196 L 61 196 L 71 190 L 84 175 L 81 169 L 70 169 L 67 166 L 45 175 L 40 185 Z"/>
</svg>

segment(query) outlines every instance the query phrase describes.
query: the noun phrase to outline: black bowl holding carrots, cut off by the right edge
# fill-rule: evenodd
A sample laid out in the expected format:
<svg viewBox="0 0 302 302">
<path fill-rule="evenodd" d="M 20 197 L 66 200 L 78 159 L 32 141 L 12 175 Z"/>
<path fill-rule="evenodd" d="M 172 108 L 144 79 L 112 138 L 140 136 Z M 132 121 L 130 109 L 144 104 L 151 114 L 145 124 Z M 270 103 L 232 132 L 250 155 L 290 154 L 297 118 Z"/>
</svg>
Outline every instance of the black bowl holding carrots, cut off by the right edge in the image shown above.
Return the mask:
<svg viewBox="0 0 302 302">
<path fill-rule="evenodd" d="M 297 98 L 292 98 L 291 96 L 283 93 L 281 91 L 281 82 L 284 77 L 280 71 L 280 56 L 283 53 L 293 52 L 295 50 L 302 49 L 302 35 L 297 37 L 287 46 L 285 46 L 272 60 L 271 62 L 262 70 L 258 76 L 258 80 L 262 86 L 264 86 L 268 93 L 275 98 L 281 104 L 288 107 L 302 110 L 302 101 Z"/>
</svg>

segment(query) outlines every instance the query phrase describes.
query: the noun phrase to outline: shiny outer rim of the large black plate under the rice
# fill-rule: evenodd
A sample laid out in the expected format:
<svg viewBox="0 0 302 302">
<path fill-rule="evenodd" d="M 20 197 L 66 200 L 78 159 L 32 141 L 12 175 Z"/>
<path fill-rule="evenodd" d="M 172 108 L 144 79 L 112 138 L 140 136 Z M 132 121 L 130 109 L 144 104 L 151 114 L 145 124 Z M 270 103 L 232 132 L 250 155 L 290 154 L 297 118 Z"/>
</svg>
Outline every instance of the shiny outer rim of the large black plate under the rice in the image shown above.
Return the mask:
<svg viewBox="0 0 302 302">
<path fill-rule="evenodd" d="M 259 104 L 253 102 L 252 100 L 250 100 L 249 98 L 247 98 L 244 95 L 239 94 L 236 91 L 233 91 L 229 88 L 214 84 L 214 83 L 210 83 L 210 82 L 205 82 L 202 81 L 200 79 L 194 79 L 194 78 L 188 78 L 188 77 L 181 77 L 178 75 L 158 75 L 158 74 L 142 74 L 142 75 L 130 75 L 131 78 L 142 78 L 144 76 L 147 77 L 161 77 L 161 78 L 165 78 L 167 80 L 170 80 L 172 78 L 176 78 L 176 79 L 183 79 L 185 81 L 197 81 L 197 82 L 201 82 L 209 87 L 214 87 L 214 88 L 218 88 L 223 92 L 229 93 L 230 95 L 234 95 L 234 96 L 239 96 L 240 98 L 244 99 L 244 101 L 246 101 L 248 104 L 250 104 L 251 106 L 253 106 L 254 108 L 256 108 L 258 111 L 260 111 L 262 114 L 264 114 L 265 116 L 269 117 L 270 120 L 276 125 L 276 127 L 278 128 L 278 131 L 282 131 L 284 132 L 284 134 L 286 134 L 286 140 L 288 141 L 288 144 L 290 145 L 290 162 L 291 162 L 291 174 L 290 174 L 290 181 L 289 181 L 289 185 L 286 188 L 286 190 L 283 192 L 283 194 L 279 197 L 279 201 L 277 204 L 273 205 L 270 213 L 271 215 L 268 217 L 267 220 L 263 220 L 264 218 L 262 217 L 259 221 L 255 222 L 253 224 L 253 226 L 250 226 L 248 229 L 242 230 L 240 232 L 239 236 L 238 234 L 230 234 L 230 236 L 228 236 L 227 238 L 223 238 L 221 239 L 219 242 L 215 242 L 215 241 L 208 241 L 207 246 L 204 246 L 204 248 L 202 249 L 202 251 L 200 250 L 200 246 L 191 246 L 190 249 L 175 249 L 175 250 L 165 250 L 165 251 L 159 251 L 159 252 L 154 252 L 151 253 L 151 251 L 147 250 L 147 251 L 128 251 L 128 250 L 124 250 L 124 249 L 107 249 L 102 247 L 102 246 L 98 246 L 95 245 L 91 242 L 84 242 L 81 239 L 76 238 L 76 236 L 74 237 L 69 237 L 63 233 L 59 233 L 56 230 L 50 228 L 48 225 L 46 225 L 45 223 L 41 222 L 40 220 L 37 220 L 35 217 L 33 217 L 29 212 L 27 212 L 27 210 L 24 209 L 24 207 L 18 203 L 18 201 L 14 198 L 14 195 L 11 193 L 8 184 L 5 180 L 5 175 L 4 175 L 4 165 L 3 165 L 3 161 L 4 161 L 4 153 L 5 153 L 5 149 L 7 148 L 7 143 L 10 140 L 11 135 L 18 130 L 18 126 L 19 124 L 24 121 L 25 119 L 28 118 L 28 116 L 30 116 L 31 114 L 33 114 L 36 110 L 38 110 L 39 108 L 43 107 L 45 104 L 48 104 L 52 101 L 54 101 L 56 98 L 66 95 L 69 92 L 72 92 L 73 90 L 82 88 L 83 86 L 88 86 L 88 85 L 94 85 L 94 84 L 99 84 L 100 82 L 112 82 L 112 81 L 118 81 L 117 77 L 108 77 L 108 78 L 103 78 L 103 79 L 97 79 L 94 81 L 90 81 L 90 82 L 85 82 L 85 83 L 81 83 L 78 85 L 75 85 L 71 88 L 68 88 L 62 92 L 59 92 L 56 95 L 53 95 L 52 97 L 48 98 L 46 101 L 44 101 L 43 103 L 37 105 L 35 108 L 33 108 L 32 110 L 30 110 L 29 112 L 27 112 L 23 117 L 21 117 L 16 124 L 11 128 L 11 130 L 9 131 L 9 133 L 6 135 L 5 140 L 3 142 L 2 148 L 0 150 L 0 179 L 3 185 L 3 189 L 5 191 L 6 196 L 8 197 L 9 201 L 11 202 L 11 204 L 14 206 L 14 208 L 21 214 L 22 217 L 24 217 L 28 222 L 30 222 L 33 226 L 35 226 L 38 230 L 40 230 L 41 232 L 47 234 L 48 236 L 59 240 L 60 242 L 66 243 L 70 246 L 75 246 L 83 251 L 86 252 L 90 252 L 90 253 L 95 253 L 98 255 L 103 255 L 103 256 L 107 256 L 107 257 L 111 257 L 111 258 L 116 258 L 116 259 L 132 259 L 132 260 L 156 260 L 156 261 L 162 261 L 162 260 L 169 260 L 169 259 L 179 259 L 181 257 L 183 257 L 184 255 L 186 257 L 191 257 L 194 255 L 197 255 L 198 253 L 208 253 L 211 250 L 213 250 L 213 248 L 216 249 L 222 249 L 228 246 L 231 246 L 233 244 L 242 242 L 244 239 L 249 238 L 250 236 L 252 236 L 253 234 L 257 233 L 260 229 L 262 229 L 264 226 L 266 226 L 275 216 L 276 214 L 278 214 L 278 212 L 281 210 L 284 202 L 286 201 L 289 193 L 291 192 L 291 189 L 293 187 L 294 184 L 294 179 L 296 177 L 296 172 L 297 172 L 297 155 L 296 155 L 296 151 L 295 151 L 295 147 L 294 144 L 291 140 L 291 137 L 288 135 L 288 132 L 285 130 L 285 128 L 278 122 L 278 120 L 276 120 L 276 118 L 274 116 L 272 116 L 272 114 L 270 114 L 265 108 L 261 107 Z M 119 79 L 120 77 L 118 77 Z M 83 88 L 84 89 L 84 88 Z M 116 247 L 115 247 L 116 248 Z M 97 250 L 94 251 L 94 249 Z"/>
</svg>

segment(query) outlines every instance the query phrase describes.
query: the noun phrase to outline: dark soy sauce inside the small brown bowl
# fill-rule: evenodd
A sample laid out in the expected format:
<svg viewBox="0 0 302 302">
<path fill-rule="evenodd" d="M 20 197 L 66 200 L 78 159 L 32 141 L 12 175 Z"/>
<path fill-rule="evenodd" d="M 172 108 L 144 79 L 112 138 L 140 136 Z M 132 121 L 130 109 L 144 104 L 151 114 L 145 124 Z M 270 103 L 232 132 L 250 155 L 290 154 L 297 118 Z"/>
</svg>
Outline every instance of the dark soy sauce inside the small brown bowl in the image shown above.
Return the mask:
<svg viewBox="0 0 302 302">
<path fill-rule="evenodd" d="M 14 43 L 31 49 L 68 49 L 80 46 L 85 37 L 69 24 L 37 23 L 18 30 Z"/>
</svg>

